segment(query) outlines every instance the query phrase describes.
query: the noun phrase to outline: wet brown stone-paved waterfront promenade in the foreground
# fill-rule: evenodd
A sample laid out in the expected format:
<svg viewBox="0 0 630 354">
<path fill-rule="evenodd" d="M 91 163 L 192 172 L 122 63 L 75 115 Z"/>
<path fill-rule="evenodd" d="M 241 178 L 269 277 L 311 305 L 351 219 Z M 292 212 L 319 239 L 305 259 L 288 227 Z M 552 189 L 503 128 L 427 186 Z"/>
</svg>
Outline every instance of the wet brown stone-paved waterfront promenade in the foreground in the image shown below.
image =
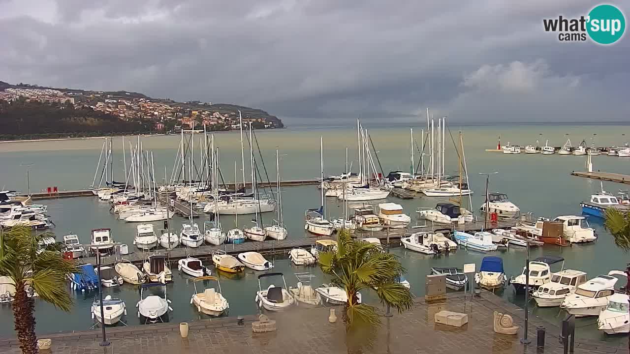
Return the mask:
<svg viewBox="0 0 630 354">
<path fill-rule="evenodd" d="M 435 312 L 441 310 L 466 312 L 469 323 L 454 328 L 433 322 Z M 522 334 L 508 336 L 493 332 L 493 311 L 512 314 L 522 326 L 522 309 L 489 293 L 473 301 L 464 301 L 462 294 L 450 295 L 442 304 L 425 304 L 418 299 L 411 311 L 383 319 L 375 345 L 365 353 L 466 353 L 507 354 L 546 353 L 559 354 L 563 350 L 558 342 L 559 329 L 551 323 L 533 317 L 530 319 L 529 337 L 532 345 L 522 346 Z M 108 329 L 112 344 L 98 345 L 100 333 L 85 331 L 49 336 L 53 340 L 52 353 L 64 354 L 345 354 L 345 331 L 341 318 L 328 323 L 329 309 L 295 309 L 286 313 L 270 314 L 277 320 L 276 332 L 255 334 L 251 331 L 254 317 L 246 317 L 239 326 L 236 319 L 214 319 L 191 323 L 188 338 L 182 339 L 178 324 L 158 324 L 133 328 Z M 537 351 L 535 328 L 547 329 L 546 347 Z M 0 353 L 20 353 L 14 340 L 0 341 Z M 42 352 L 44 353 L 44 352 Z M 576 340 L 576 354 L 626 354 L 624 346 L 608 346 L 599 341 L 581 343 Z"/>
</svg>

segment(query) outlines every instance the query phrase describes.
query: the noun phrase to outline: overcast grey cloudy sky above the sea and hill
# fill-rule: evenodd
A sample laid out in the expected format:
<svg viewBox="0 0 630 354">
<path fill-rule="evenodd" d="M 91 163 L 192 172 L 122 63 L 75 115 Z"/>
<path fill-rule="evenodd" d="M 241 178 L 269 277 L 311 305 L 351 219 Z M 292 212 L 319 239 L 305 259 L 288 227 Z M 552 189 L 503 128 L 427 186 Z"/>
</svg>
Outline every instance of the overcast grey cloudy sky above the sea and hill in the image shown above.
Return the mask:
<svg viewBox="0 0 630 354">
<path fill-rule="evenodd" d="M 427 106 L 458 122 L 627 121 L 627 33 L 604 47 L 542 28 L 598 3 L 0 0 L 0 80 L 236 103 L 296 123 L 413 120 Z"/>
</svg>

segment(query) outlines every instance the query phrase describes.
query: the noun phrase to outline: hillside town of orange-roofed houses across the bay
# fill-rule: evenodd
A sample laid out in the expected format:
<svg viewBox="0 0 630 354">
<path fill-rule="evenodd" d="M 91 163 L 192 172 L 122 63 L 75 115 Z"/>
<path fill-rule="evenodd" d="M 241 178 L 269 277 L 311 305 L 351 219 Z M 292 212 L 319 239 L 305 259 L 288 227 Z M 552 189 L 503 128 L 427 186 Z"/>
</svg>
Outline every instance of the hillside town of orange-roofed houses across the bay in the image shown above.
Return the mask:
<svg viewBox="0 0 630 354">
<path fill-rule="evenodd" d="M 188 101 L 179 103 L 171 100 L 158 100 L 138 93 L 64 90 L 50 88 L 6 88 L 0 91 L 0 100 L 11 103 L 16 100 L 38 101 L 42 103 L 72 105 L 75 108 L 91 108 L 127 122 L 151 121 L 153 130 L 168 132 L 180 128 L 200 128 L 208 130 L 236 130 L 239 128 L 239 111 L 245 125 L 253 128 L 282 128 L 282 122 L 265 111 L 236 105 L 202 103 Z"/>
</svg>

